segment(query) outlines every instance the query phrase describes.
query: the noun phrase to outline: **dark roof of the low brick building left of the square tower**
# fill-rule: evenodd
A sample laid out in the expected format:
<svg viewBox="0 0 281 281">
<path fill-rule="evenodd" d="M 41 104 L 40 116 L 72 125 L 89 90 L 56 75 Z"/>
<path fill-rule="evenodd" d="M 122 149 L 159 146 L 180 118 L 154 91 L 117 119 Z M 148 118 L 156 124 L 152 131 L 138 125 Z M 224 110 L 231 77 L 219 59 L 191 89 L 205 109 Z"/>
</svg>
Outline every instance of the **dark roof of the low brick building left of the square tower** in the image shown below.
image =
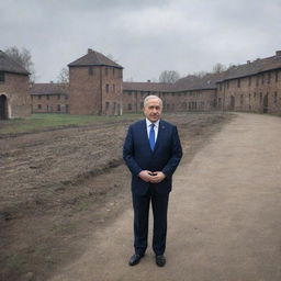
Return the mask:
<svg viewBox="0 0 281 281">
<path fill-rule="evenodd" d="M 32 95 L 42 94 L 69 94 L 68 83 L 34 83 L 30 89 Z"/>
</svg>

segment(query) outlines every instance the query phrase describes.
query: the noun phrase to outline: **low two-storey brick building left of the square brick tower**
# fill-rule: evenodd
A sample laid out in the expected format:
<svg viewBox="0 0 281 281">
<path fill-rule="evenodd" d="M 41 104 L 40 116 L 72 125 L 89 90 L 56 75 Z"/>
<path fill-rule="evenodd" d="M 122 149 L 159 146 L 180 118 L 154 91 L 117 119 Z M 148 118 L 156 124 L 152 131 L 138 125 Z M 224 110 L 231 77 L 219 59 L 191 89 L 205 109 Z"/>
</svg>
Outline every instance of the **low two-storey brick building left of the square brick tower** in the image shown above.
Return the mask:
<svg viewBox="0 0 281 281">
<path fill-rule="evenodd" d="M 68 113 L 68 83 L 34 83 L 30 89 L 32 113 Z"/>
</svg>

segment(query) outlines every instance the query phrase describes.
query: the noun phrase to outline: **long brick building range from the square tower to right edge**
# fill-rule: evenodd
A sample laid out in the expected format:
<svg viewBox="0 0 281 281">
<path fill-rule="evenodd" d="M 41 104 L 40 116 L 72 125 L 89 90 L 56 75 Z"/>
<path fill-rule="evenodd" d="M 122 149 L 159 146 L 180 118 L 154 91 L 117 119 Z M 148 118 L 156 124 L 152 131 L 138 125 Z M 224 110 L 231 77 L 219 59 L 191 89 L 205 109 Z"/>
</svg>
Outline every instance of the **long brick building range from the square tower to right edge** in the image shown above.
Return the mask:
<svg viewBox="0 0 281 281">
<path fill-rule="evenodd" d="M 281 113 L 281 50 L 221 74 L 188 76 L 175 85 L 124 82 L 124 112 L 139 111 L 146 94 L 159 95 L 165 111 Z"/>
</svg>

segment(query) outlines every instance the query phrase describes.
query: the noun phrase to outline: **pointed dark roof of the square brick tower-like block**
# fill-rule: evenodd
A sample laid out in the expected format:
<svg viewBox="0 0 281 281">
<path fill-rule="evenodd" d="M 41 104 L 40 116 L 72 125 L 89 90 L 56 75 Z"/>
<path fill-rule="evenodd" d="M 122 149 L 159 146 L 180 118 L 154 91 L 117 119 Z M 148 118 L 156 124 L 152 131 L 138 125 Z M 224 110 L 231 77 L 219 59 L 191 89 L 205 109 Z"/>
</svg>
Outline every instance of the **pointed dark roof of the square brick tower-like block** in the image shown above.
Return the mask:
<svg viewBox="0 0 281 281">
<path fill-rule="evenodd" d="M 123 68 L 121 65 L 116 64 L 115 61 L 111 60 L 110 58 L 105 57 L 101 53 L 92 50 L 91 48 L 88 49 L 88 54 L 78 58 L 77 60 L 70 63 L 69 67 L 76 66 L 112 66 L 116 68 Z"/>
</svg>

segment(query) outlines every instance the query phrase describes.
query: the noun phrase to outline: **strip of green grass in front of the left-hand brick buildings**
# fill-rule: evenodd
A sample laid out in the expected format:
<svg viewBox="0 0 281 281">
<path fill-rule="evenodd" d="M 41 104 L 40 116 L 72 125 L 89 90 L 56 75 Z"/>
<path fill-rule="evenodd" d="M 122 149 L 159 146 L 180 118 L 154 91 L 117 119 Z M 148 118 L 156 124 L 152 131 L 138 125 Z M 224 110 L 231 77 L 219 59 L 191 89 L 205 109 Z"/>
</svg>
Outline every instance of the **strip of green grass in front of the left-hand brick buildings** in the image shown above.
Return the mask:
<svg viewBox="0 0 281 281">
<path fill-rule="evenodd" d="M 140 119 L 142 114 L 121 116 L 70 115 L 70 114 L 32 114 L 29 119 L 0 121 L 0 135 L 32 133 L 66 126 L 83 126 L 97 123 L 112 123 Z"/>
</svg>

